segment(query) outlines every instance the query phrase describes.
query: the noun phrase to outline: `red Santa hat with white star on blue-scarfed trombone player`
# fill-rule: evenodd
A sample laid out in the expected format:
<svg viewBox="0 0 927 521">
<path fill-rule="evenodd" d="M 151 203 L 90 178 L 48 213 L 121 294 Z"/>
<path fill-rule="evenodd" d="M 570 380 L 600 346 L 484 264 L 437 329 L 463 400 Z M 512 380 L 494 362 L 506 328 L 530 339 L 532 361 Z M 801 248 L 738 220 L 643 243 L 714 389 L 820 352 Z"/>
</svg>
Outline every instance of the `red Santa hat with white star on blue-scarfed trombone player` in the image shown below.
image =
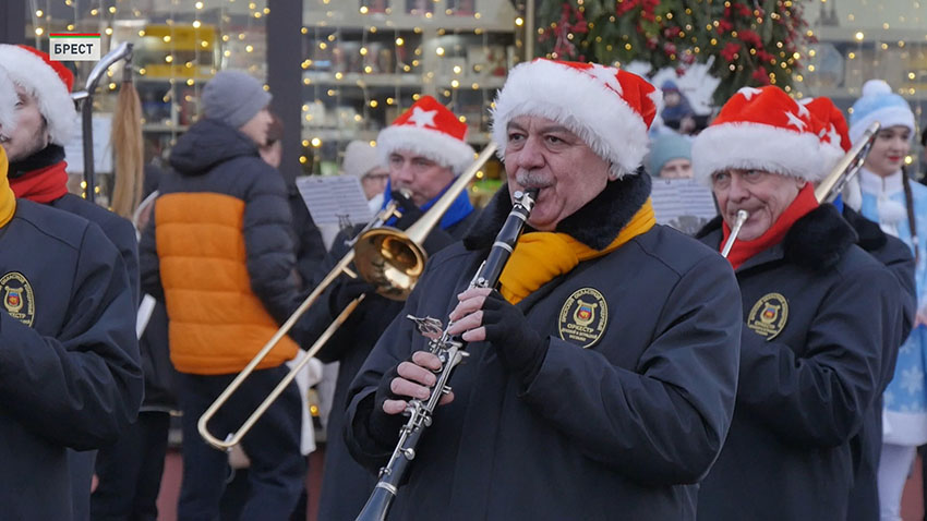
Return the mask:
<svg viewBox="0 0 927 521">
<path fill-rule="evenodd" d="M 473 162 L 475 153 L 467 144 L 467 123 L 431 96 L 422 96 L 376 137 L 381 162 L 406 150 L 426 157 L 460 174 Z"/>
</svg>

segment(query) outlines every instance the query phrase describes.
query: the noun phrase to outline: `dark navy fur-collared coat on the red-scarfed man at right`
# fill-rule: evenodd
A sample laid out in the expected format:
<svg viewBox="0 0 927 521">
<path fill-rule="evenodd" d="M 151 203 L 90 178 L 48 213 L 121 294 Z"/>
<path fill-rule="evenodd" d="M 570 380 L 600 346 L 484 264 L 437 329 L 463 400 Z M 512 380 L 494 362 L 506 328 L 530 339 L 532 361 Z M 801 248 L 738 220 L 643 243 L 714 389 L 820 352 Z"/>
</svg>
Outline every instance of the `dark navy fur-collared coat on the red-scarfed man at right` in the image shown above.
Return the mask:
<svg viewBox="0 0 927 521">
<path fill-rule="evenodd" d="M 717 251 L 720 218 L 699 237 Z M 879 397 L 882 348 L 902 322 L 896 278 L 856 241 L 826 205 L 737 268 L 746 323 L 737 407 L 701 483 L 699 519 L 846 519 L 851 439 Z M 766 330 L 778 334 L 763 337 L 770 317 Z"/>
</svg>

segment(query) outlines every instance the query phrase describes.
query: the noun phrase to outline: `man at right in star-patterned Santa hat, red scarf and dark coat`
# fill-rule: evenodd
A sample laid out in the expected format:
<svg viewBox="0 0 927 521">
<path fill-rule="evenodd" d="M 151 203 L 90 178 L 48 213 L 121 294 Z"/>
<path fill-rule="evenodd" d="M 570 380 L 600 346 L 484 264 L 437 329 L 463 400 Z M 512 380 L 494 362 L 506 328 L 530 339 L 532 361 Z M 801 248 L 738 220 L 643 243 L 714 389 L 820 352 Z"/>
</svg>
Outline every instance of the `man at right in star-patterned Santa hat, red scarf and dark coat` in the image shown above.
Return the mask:
<svg viewBox="0 0 927 521">
<path fill-rule="evenodd" d="M 698 494 L 699 519 L 845 520 L 851 439 L 901 336 L 901 287 L 855 243 L 821 181 L 843 155 L 818 111 L 775 86 L 742 88 L 696 137 L 696 178 L 721 215 L 700 232 L 727 256 L 743 298 L 737 407 Z"/>
</svg>

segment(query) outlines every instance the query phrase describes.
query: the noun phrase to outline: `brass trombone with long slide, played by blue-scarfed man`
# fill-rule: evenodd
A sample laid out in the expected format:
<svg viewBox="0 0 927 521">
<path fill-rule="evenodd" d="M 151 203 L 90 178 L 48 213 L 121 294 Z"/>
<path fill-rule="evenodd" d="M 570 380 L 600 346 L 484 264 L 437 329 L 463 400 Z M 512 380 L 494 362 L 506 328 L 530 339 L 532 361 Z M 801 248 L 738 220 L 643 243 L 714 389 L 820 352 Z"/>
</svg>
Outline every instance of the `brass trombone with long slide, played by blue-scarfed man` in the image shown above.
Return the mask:
<svg viewBox="0 0 927 521">
<path fill-rule="evenodd" d="M 358 304 L 365 295 L 361 294 L 351 302 L 338 314 L 335 320 L 328 325 L 322 336 L 306 350 L 306 355 L 293 365 L 292 369 L 287 373 L 287 376 L 277 384 L 277 387 L 261 402 L 260 405 L 251 413 L 248 420 L 241 424 L 238 431 L 229 433 L 225 439 L 219 439 L 214 436 L 208 428 L 209 420 L 225 405 L 229 398 L 234 393 L 241 384 L 254 372 L 257 364 L 277 346 L 280 339 L 292 329 L 300 317 L 305 314 L 312 304 L 318 300 L 320 295 L 335 281 L 341 274 L 351 278 L 358 277 L 358 274 L 373 284 L 376 292 L 383 296 L 393 300 L 406 300 L 416 286 L 419 277 L 424 270 L 425 259 L 428 255 L 421 244 L 424 242 L 431 230 L 441 221 L 441 217 L 454 203 L 454 199 L 462 191 L 467 189 L 470 181 L 477 175 L 477 172 L 495 153 L 496 145 L 490 143 L 472 165 L 461 173 L 456 181 L 447 189 L 447 192 L 435 202 L 434 206 L 423 215 L 418 221 L 410 226 L 405 232 L 385 226 L 384 223 L 392 217 L 398 217 L 398 204 L 394 201 L 382 209 L 376 217 L 368 223 L 354 238 L 352 249 L 341 257 L 340 260 L 328 271 L 328 275 L 315 287 L 315 289 L 306 296 L 299 307 L 290 315 L 276 334 L 267 341 L 266 344 L 257 352 L 254 359 L 236 376 L 221 395 L 209 405 L 209 409 L 200 416 L 196 424 L 200 435 L 213 447 L 217 449 L 228 450 L 241 441 L 241 438 L 251 429 L 252 426 L 261 419 L 268 407 L 284 392 L 288 385 L 296 378 L 297 374 L 305 364 L 328 342 L 328 339 L 335 331 L 348 319 L 348 316 L 357 308 Z M 348 265 L 356 260 L 358 274 L 354 274 Z"/>
</svg>

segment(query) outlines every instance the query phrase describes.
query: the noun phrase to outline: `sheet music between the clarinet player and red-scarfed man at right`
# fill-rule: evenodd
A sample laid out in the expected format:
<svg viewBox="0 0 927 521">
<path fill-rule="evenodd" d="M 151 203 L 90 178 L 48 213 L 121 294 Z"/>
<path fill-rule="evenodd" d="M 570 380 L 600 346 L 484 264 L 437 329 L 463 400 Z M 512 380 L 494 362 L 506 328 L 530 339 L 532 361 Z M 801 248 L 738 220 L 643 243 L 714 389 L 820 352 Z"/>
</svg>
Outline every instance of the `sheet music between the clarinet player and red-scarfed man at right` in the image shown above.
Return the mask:
<svg viewBox="0 0 927 521">
<path fill-rule="evenodd" d="M 650 195 L 657 222 L 689 235 L 718 215 L 711 190 L 694 179 L 653 178 Z"/>
</svg>

